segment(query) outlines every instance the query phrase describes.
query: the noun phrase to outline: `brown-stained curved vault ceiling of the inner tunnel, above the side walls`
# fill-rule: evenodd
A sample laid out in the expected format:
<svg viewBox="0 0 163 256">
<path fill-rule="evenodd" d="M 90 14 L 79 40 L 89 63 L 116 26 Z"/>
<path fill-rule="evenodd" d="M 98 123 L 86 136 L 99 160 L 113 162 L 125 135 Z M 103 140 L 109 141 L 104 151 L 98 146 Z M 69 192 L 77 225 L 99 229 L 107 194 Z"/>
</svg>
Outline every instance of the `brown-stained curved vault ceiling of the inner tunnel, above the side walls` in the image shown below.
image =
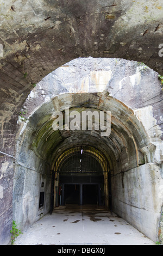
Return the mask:
<svg viewBox="0 0 163 256">
<path fill-rule="evenodd" d="M 66 96 L 67 94 L 65 94 L 65 99 Z M 102 137 L 100 130 L 54 131 L 53 112 L 55 111 L 54 102 L 57 100 L 55 97 L 51 102 L 42 105 L 29 118 L 29 123 L 23 133 L 24 142 L 20 151 L 28 148 L 41 159 L 53 164 L 66 149 L 77 145 L 87 145 L 101 151 L 108 159 L 110 168 L 117 168 L 118 162 L 122 164 L 123 170 L 145 163 L 144 156 L 142 157 L 141 154 L 143 154 L 143 148 L 149 145 L 149 138 L 144 127 L 129 107 L 110 96 L 102 97 L 101 94 L 87 93 L 85 95 L 86 102 L 82 100 L 83 94 L 78 94 L 78 102 L 76 94 L 71 94 L 71 96 L 70 112 L 73 110 L 82 112 L 88 109 L 108 111 L 109 109 L 111 112 L 110 136 Z M 103 104 L 99 106 L 102 99 Z M 61 106 L 61 109 L 63 107 L 64 105 Z"/>
</svg>

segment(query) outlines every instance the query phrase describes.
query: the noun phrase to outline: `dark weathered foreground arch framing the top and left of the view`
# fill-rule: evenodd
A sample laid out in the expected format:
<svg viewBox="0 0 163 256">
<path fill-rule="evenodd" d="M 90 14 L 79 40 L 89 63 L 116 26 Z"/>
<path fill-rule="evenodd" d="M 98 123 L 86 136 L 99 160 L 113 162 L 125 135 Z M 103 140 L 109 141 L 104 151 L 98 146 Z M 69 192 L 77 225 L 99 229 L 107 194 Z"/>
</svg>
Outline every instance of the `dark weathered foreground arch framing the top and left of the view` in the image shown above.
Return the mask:
<svg viewBox="0 0 163 256">
<path fill-rule="evenodd" d="M 163 75 L 162 57 L 158 54 L 162 44 L 162 10 L 161 0 L 1 1 L 0 44 L 4 50 L 3 58 L 0 57 L 1 151 L 15 156 L 17 118 L 32 84 L 74 58 L 137 60 Z M 158 113 L 158 108 L 153 106 L 153 111 Z M 0 181 L 1 209 L 4 209 L 1 223 L 8 218 L 11 223 L 12 204 L 6 202 L 11 198 L 12 160 L 0 155 L 4 175 Z M 4 173 L 9 174 L 11 182 Z M 4 237 L 6 231 L 2 233 Z M 2 241 L 8 242 L 8 238 Z"/>
</svg>

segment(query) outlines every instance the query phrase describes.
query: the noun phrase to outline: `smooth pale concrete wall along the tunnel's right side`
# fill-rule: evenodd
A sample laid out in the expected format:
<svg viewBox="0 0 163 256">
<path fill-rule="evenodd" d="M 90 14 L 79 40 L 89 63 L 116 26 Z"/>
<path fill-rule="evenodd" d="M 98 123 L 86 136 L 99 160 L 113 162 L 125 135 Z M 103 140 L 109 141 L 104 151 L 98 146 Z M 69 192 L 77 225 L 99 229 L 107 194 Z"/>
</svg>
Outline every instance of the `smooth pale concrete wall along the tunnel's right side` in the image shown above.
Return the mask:
<svg viewBox="0 0 163 256">
<path fill-rule="evenodd" d="M 113 211 L 131 225 L 158 241 L 163 180 L 153 163 L 112 177 Z"/>
</svg>

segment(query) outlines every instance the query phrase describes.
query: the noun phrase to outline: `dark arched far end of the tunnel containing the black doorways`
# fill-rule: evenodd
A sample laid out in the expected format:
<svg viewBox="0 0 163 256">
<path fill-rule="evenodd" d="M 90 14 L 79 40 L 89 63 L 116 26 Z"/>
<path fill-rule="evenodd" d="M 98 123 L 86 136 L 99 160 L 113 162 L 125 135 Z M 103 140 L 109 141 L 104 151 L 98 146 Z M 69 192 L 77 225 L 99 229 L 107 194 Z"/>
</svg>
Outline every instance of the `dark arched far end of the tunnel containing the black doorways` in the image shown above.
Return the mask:
<svg viewBox="0 0 163 256">
<path fill-rule="evenodd" d="M 108 163 L 97 149 L 83 145 L 66 150 L 54 167 L 52 209 L 66 204 L 105 205 L 110 187 L 105 179 L 108 173 Z M 110 184 L 109 179 L 107 182 Z"/>
</svg>

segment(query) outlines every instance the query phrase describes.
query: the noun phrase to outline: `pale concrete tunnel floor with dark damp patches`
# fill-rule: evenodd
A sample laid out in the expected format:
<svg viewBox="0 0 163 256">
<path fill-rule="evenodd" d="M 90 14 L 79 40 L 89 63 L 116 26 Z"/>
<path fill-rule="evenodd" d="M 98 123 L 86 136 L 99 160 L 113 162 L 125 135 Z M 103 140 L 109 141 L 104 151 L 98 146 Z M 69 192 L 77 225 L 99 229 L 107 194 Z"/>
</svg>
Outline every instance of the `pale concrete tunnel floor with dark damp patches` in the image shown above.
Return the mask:
<svg viewBox="0 0 163 256">
<path fill-rule="evenodd" d="M 23 231 L 15 245 L 155 245 L 116 214 L 101 206 L 56 208 Z"/>
</svg>

